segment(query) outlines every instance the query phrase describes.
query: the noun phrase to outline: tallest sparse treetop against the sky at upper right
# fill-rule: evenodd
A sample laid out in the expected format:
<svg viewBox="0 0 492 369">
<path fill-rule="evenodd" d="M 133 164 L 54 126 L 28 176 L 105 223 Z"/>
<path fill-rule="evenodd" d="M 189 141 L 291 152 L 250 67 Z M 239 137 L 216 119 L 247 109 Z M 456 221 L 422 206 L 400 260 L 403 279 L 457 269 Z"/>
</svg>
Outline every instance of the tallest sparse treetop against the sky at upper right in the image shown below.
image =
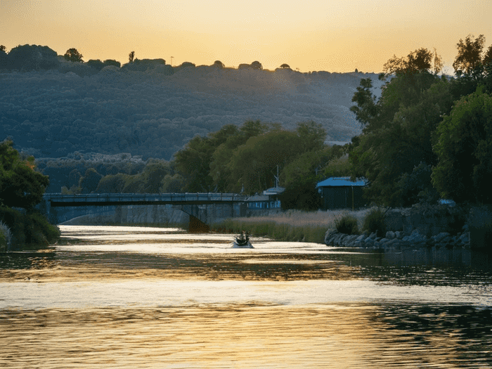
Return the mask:
<svg viewBox="0 0 492 369">
<path fill-rule="evenodd" d="M 472 34 L 469 34 L 465 41 L 460 39 L 456 47 L 458 55 L 453 63 L 453 68 L 458 76 L 471 75 L 481 65 L 481 53 L 484 49 L 485 37 L 480 34 L 477 39 L 474 39 Z"/>
</svg>

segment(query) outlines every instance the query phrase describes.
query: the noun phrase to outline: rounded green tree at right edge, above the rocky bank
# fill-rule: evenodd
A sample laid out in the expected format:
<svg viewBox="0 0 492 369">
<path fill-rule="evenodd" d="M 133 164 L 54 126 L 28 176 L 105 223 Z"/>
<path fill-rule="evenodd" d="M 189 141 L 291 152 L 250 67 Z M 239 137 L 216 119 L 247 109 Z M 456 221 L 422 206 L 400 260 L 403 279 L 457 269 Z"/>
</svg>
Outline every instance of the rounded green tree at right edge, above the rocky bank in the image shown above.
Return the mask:
<svg viewBox="0 0 492 369">
<path fill-rule="evenodd" d="M 462 97 L 439 124 L 436 138 L 439 164 L 432 183 L 441 196 L 491 203 L 492 97 L 481 91 Z"/>
</svg>

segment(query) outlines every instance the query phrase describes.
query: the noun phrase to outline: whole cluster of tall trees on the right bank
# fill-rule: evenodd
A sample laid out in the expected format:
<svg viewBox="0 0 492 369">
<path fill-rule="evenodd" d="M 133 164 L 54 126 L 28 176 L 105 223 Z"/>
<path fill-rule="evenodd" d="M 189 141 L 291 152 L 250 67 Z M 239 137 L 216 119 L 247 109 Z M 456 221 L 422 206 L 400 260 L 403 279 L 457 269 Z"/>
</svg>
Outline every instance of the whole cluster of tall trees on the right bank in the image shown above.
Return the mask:
<svg viewBox="0 0 492 369">
<path fill-rule="evenodd" d="M 456 75 L 421 48 L 384 65 L 380 98 L 362 79 L 352 111 L 363 132 L 349 149 L 351 176 L 369 181 L 366 195 L 386 206 L 490 202 L 492 179 L 492 46 L 483 35 L 458 43 Z"/>
</svg>

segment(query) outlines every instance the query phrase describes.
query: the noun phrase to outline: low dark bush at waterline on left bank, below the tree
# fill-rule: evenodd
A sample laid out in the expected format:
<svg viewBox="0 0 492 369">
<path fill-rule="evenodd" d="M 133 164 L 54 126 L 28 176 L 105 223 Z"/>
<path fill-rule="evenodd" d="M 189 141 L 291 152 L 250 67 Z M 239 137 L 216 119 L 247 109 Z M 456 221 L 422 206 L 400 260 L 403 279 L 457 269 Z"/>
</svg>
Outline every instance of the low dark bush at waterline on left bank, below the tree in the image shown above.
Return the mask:
<svg viewBox="0 0 492 369">
<path fill-rule="evenodd" d="M 37 212 L 22 214 L 16 209 L 0 206 L 0 221 L 11 232 L 11 242 L 6 246 L 6 250 L 35 250 L 46 247 L 60 238 L 58 227 L 49 224 L 46 218 Z"/>
</svg>

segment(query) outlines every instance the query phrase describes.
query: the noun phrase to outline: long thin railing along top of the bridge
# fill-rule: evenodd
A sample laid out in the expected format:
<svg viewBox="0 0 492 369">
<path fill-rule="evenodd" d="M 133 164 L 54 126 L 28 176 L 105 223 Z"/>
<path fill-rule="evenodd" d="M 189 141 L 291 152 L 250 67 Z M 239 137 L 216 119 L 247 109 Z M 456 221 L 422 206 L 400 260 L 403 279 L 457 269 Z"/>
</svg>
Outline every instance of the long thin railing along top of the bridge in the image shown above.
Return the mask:
<svg viewBox="0 0 492 369">
<path fill-rule="evenodd" d="M 44 200 L 52 202 L 188 202 L 188 201 L 245 201 L 248 196 L 237 193 L 90 193 L 63 195 L 45 193 Z"/>
</svg>

